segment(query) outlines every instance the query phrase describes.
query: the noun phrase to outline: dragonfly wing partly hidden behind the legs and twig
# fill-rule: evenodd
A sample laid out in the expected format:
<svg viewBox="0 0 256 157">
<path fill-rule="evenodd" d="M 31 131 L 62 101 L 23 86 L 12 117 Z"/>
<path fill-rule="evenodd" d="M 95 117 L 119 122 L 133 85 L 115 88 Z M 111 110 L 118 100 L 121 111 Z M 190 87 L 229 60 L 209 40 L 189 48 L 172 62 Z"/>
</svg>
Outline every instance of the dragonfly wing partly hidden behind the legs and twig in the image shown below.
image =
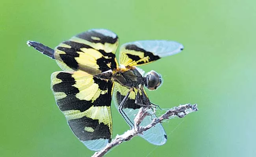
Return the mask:
<svg viewBox="0 0 256 157">
<path fill-rule="evenodd" d="M 115 82 L 115 86 L 113 89 L 113 100 L 117 108 L 121 104 L 122 100 L 124 99 L 128 91 L 129 91 L 128 88 Z M 128 99 L 126 100 L 126 102 L 124 102 L 124 106 L 123 106 L 123 111 L 126 113 L 127 117 L 132 122 L 134 121 L 134 118 L 138 113 L 139 108 L 141 108 L 141 106 L 135 104 L 135 97 L 137 92 L 138 92 L 137 89 L 135 89 L 135 91 L 132 91 Z M 141 126 L 148 125 L 150 122 L 152 122 L 152 119 L 156 118 L 156 115 L 153 114 L 152 110 L 149 110 L 148 112 L 152 114 L 152 116 L 146 116 L 145 119 L 141 122 Z M 130 123 L 129 120 L 126 120 L 126 122 Z M 130 126 L 132 126 L 131 123 L 130 123 Z M 167 141 L 167 135 L 165 133 L 165 130 L 163 129 L 163 126 L 160 123 L 156 124 L 155 127 L 145 131 L 143 135 L 140 135 L 140 136 L 143 137 L 148 142 L 155 145 L 162 145 L 162 144 L 165 144 L 165 142 Z"/>
</svg>

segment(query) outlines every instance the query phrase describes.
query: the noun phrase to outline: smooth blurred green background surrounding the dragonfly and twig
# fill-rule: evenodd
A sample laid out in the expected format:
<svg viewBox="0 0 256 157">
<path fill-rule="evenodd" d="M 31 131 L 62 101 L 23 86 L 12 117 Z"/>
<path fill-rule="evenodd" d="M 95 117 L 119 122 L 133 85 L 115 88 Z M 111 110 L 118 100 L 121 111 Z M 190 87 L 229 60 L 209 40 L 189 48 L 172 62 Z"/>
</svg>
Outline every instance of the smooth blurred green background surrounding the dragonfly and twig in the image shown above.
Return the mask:
<svg viewBox="0 0 256 157">
<path fill-rule="evenodd" d="M 87 157 L 58 110 L 50 75 L 60 71 L 27 40 L 50 47 L 92 28 L 119 35 L 121 44 L 165 39 L 178 55 L 142 66 L 163 75 L 148 92 L 161 108 L 198 104 L 199 111 L 163 123 L 163 146 L 141 137 L 106 156 L 255 157 L 255 0 L 2 0 L 0 5 L 1 157 Z M 128 129 L 112 107 L 114 136 Z"/>
</svg>

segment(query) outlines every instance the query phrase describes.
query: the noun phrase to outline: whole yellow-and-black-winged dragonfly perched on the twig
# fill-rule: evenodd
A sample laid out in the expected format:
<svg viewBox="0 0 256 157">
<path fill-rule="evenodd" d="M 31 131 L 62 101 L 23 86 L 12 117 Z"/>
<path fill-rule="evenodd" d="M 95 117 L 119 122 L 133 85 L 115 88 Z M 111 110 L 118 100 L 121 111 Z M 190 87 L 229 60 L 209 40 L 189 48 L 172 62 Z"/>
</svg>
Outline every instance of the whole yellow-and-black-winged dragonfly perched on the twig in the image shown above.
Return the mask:
<svg viewBox="0 0 256 157">
<path fill-rule="evenodd" d="M 115 53 L 119 38 L 107 29 L 90 29 L 61 42 L 55 49 L 34 41 L 27 44 L 56 60 L 63 70 L 51 75 L 56 103 L 74 135 L 93 151 L 111 142 L 112 99 L 131 128 L 140 108 L 156 106 L 150 102 L 145 88 L 159 88 L 163 78 L 156 71 L 145 73 L 137 66 L 184 49 L 182 44 L 167 40 L 129 42 L 120 47 L 118 63 Z M 148 109 L 148 113 L 141 126 L 156 118 L 153 110 Z M 155 145 L 167 141 L 160 123 L 140 136 Z"/>
</svg>

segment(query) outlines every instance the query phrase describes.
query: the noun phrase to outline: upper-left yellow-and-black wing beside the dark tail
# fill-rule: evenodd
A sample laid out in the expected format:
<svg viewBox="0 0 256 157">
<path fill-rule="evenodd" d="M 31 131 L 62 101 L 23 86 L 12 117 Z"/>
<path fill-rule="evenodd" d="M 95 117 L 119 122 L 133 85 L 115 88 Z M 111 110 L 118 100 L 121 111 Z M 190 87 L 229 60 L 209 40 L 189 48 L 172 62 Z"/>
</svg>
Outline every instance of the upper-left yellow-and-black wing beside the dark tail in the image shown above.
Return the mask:
<svg viewBox="0 0 256 157">
<path fill-rule="evenodd" d="M 54 50 L 54 58 L 64 71 L 82 70 L 98 75 L 117 68 L 115 52 L 119 41 L 107 29 L 91 29 L 62 42 Z"/>
</svg>

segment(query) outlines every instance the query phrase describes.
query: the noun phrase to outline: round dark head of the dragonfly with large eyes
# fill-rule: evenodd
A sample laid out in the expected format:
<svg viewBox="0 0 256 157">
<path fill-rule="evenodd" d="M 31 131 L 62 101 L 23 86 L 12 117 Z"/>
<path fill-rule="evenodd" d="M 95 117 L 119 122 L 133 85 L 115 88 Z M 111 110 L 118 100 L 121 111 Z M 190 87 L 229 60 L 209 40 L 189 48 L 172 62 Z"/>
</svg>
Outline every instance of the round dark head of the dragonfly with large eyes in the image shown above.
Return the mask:
<svg viewBox="0 0 256 157">
<path fill-rule="evenodd" d="M 161 76 L 154 70 L 151 70 L 150 72 L 148 72 L 145 76 L 145 86 L 149 89 L 149 90 L 155 90 L 158 87 L 161 86 L 162 78 Z"/>
</svg>

